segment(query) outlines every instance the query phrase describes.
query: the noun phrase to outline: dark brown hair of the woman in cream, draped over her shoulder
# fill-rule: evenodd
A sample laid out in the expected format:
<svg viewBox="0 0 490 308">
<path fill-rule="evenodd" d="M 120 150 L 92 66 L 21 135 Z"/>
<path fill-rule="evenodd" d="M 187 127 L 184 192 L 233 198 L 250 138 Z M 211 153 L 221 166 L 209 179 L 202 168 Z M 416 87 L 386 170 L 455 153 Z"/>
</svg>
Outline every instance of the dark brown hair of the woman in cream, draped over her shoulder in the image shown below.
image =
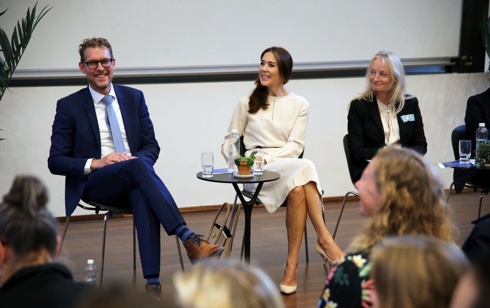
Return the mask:
<svg viewBox="0 0 490 308">
<path fill-rule="evenodd" d="M 291 78 L 291 72 L 293 71 L 293 57 L 288 52 L 288 50 L 283 47 L 269 47 L 262 52 L 260 59 L 264 57 L 266 52 L 272 52 L 277 60 L 277 68 L 282 77 L 282 83 L 286 84 Z M 248 102 L 248 112 L 251 114 L 256 113 L 259 109 L 266 110 L 269 104 L 267 103 L 268 96 L 267 87 L 264 87 L 260 83 L 260 76 L 257 76 L 255 80 L 255 89 L 253 89 L 252 94 L 250 94 L 250 100 Z"/>
</svg>

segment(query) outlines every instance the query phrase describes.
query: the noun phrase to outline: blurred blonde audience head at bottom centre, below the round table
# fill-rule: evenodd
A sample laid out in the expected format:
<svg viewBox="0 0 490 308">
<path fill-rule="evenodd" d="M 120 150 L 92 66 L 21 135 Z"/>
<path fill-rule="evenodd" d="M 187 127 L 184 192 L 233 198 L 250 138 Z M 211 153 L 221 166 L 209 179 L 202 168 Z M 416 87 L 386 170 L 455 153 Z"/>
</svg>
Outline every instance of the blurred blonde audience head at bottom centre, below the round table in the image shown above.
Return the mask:
<svg viewBox="0 0 490 308">
<path fill-rule="evenodd" d="M 279 290 L 262 270 L 235 261 L 209 261 L 173 283 L 183 308 L 283 308 Z"/>
</svg>

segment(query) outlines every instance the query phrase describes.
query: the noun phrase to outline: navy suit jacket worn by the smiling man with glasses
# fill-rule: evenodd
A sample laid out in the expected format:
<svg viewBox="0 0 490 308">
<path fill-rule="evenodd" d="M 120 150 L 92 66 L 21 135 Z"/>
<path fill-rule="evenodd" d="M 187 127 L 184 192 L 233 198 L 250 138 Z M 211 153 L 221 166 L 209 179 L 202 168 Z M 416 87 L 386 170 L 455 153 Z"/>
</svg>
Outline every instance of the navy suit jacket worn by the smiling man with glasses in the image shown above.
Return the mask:
<svg viewBox="0 0 490 308">
<path fill-rule="evenodd" d="M 125 86 L 113 87 L 131 154 L 155 164 L 160 147 L 143 92 Z M 48 168 L 52 174 L 66 177 L 67 216 L 73 213 L 82 196 L 89 176 L 83 174 L 83 169 L 90 158 L 101 158 L 100 130 L 94 100 L 87 87 L 58 100 L 52 126 Z"/>
</svg>

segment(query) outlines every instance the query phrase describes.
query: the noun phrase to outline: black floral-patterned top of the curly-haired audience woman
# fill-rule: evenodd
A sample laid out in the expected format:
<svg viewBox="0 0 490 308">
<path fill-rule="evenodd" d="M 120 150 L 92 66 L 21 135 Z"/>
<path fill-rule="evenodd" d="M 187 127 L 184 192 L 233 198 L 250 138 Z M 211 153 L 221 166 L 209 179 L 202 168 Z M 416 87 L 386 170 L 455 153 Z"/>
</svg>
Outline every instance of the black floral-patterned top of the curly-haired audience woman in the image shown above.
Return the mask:
<svg viewBox="0 0 490 308">
<path fill-rule="evenodd" d="M 348 254 L 339 259 L 327 276 L 318 308 L 369 308 L 372 307 L 370 278 L 371 249 Z"/>
</svg>

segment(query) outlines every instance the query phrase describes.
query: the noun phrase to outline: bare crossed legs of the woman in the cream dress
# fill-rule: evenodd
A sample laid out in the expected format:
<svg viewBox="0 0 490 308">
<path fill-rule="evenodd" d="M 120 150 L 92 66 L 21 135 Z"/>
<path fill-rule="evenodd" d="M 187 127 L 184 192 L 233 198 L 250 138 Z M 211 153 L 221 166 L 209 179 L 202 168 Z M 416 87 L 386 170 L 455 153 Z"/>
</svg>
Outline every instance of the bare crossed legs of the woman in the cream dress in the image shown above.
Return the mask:
<svg viewBox="0 0 490 308">
<path fill-rule="evenodd" d="M 295 187 L 289 192 L 286 200 L 288 202 L 286 208 L 288 259 L 281 284 L 296 285 L 298 253 L 303 238 L 307 214 L 310 216 L 313 227 L 317 232 L 318 243 L 327 256 L 332 260 L 337 260 L 343 256 L 343 253 L 323 222 L 321 215 L 322 200 L 315 182 L 310 181 L 304 186 Z"/>
</svg>

